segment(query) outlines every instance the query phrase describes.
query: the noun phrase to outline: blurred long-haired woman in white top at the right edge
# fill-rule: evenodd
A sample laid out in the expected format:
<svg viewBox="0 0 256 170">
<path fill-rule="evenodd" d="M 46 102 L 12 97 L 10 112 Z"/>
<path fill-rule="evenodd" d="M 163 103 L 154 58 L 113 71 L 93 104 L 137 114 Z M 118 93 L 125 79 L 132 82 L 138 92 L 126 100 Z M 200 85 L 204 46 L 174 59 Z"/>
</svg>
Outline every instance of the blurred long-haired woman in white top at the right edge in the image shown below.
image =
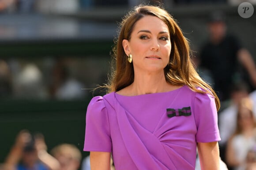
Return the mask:
<svg viewBox="0 0 256 170">
<path fill-rule="evenodd" d="M 235 133 L 230 137 L 226 149 L 226 163 L 234 170 L 245 170 L 246 156 L 256 144 L 256 120 L 253 102 L 243 98 L 238 104 Z"/>
</svg>

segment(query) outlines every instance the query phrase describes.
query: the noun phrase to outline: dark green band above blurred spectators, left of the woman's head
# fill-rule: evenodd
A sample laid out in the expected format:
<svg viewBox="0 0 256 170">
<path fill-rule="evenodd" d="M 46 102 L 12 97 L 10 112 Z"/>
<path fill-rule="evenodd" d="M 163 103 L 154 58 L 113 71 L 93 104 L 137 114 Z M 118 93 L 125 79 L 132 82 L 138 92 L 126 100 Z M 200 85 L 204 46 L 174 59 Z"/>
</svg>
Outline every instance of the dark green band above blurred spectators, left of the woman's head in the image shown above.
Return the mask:
<svg viewBox="0 0 256 170">
<path fill-rule="evenodd" d="M 1 58 L 107 55 L 111 51 L 111 40 L 30 40 L 0 41 Z"/>
</svg>

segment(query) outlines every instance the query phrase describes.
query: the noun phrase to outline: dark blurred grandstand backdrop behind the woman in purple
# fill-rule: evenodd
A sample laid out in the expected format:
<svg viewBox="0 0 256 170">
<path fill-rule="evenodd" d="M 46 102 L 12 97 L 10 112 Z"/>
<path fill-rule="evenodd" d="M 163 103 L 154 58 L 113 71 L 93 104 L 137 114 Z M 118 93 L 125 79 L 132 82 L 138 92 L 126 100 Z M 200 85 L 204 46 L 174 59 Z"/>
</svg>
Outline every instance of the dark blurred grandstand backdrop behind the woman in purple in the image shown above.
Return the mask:
<svg viewBox="0 0 256 170">
<path fill-rule="evenodd" d="M 256 14 L 242 18 L 241 0 L 158 0 L 190 42 L 195 56 L 214 11 L 256 61 Z M 255 0 L 247 1 L 254 5 Z M 0 163 L 20 130 L 83 152 L 88 102 L 104 91 L 118 22 L 131 7 L 154 0 L 0 0 Z M 256 9 L 256 8 L 255 8 Z M 225 109 L 223 103 L 221 110 Z M 224 159 L 224 158 L 223 158 Z M 81 168 L 81 166 L 80 166 Z"/>
</svg>

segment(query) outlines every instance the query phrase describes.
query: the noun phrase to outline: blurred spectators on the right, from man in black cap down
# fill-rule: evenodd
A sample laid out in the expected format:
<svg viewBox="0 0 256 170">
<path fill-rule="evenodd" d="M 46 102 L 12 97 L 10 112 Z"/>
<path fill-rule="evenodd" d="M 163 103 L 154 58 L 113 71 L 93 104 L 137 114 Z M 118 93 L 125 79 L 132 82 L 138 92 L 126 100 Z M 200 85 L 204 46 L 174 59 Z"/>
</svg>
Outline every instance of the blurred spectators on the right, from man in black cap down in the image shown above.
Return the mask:
<svg viewBox="0 0 256 170">
<path fill-rule="evenodd" d="M 221 159 L 229 170 L 256 170 L 256 64 L 237 39 L 227 32 L 225 14 L 211 14 L 208 39 L 195 65 L 220 101 L 218 125 Z"/>
</svg>

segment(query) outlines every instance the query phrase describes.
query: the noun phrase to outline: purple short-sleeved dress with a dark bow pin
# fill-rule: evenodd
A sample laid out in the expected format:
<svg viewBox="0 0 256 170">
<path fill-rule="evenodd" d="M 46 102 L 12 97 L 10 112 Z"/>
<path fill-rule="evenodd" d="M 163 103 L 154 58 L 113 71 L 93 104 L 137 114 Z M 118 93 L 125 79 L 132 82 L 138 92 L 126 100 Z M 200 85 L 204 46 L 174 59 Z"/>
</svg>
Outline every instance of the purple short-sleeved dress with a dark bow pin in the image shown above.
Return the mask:
<svg viewBox="0 0 256 170">
<path fill-rule="evenodd" d="M 94 97 L 84 151 L 112 152 L 116 170 L 195 170 L 197 142 L 219 141 L 214 97 L 177 90 Z"/>
</svg>

